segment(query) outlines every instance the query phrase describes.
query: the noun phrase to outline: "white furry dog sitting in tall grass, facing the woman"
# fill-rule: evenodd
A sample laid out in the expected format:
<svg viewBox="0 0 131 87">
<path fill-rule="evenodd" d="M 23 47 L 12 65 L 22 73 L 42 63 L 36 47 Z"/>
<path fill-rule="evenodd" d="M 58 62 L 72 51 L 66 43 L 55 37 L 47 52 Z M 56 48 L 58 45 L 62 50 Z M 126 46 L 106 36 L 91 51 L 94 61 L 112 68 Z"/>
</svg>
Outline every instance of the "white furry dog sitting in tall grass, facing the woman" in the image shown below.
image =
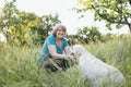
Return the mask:
<svg viewBox="0 0 131 87">
<path fill-rule="evenodd" d="M 121 87 L 124 84 L 120 71 L 87 52 L 82 45 L 74 45 L 72 52 L 79 58 L 79 67 L 90 80 L 91 87 Z"/>
</svg>

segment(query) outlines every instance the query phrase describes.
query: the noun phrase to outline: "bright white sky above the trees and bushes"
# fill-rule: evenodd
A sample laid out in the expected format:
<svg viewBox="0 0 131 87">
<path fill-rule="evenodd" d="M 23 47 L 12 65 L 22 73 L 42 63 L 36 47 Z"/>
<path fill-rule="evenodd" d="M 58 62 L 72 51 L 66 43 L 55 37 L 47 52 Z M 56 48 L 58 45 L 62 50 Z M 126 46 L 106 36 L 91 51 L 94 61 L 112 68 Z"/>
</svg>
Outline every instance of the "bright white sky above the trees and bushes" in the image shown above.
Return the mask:
<svg viewBox="0 0 131 87">
<path fill-rule="evenodd" d="M 7 0 L 11 1 L 11 0 Z M 0 0 L 0 8 L 4 5 L 4 0 Z M 93 12 L 86 12 L 86 16 L 79 18 L 81 14 L 72 9 L 78 5 L 76 0 L 16 0 L 15 5 L 19 10 L 25 12 L 34 12 L 37 15 L 59 14 L 59 20 L 68 28 L 68 34 L 76 34 L 78 28 L 83 26 L 97 26 L 103 34 L 127 34 L 129 30 L 124 26 L 122 29 L 108 30 L 105 27 L 105 22 L 94 22 Z M 112 26 L 114 27 L 114 26 Z"/>
</svg>

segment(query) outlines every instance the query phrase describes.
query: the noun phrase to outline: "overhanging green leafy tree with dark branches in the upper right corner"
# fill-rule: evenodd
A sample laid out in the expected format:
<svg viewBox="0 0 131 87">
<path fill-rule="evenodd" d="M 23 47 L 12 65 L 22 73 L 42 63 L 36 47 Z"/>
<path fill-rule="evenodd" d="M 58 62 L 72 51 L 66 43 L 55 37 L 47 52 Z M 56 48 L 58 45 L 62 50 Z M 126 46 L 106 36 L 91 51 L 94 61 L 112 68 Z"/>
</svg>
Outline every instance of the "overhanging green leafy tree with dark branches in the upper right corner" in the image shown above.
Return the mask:
<svg viewBox="0 0 131 87">
<path fill-rule="evenodd" d="M 94 11 L 95 21 L 106 21 L 106 26 L 111 29 L 116 24 L 117 28 L 128 25 L 131 32 L 131 0 L 79 0 L 82 9 L 78 12 Z"/>
</svg>

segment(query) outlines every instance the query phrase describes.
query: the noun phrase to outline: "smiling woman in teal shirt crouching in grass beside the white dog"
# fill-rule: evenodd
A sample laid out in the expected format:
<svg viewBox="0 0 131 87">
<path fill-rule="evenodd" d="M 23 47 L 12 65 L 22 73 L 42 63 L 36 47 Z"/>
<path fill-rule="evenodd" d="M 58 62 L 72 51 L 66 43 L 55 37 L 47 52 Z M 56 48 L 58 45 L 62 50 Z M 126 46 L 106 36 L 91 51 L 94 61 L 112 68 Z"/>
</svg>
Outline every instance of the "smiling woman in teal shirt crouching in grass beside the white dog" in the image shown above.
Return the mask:
<svg viewBox="0 0 131 87">
<path fill-rule="evenodd" d="M 52 34 L 46 38 L 43 45 L 38 59 L 39 66 L 56 72 L 59 67 L 66 70 L 70 66 L 69 61 L 67 61 L 68 58 L 75 62 L 74 57 L 70 53 L 68 41 L 64 39 L 66 35 L 66 26 L 57 25 L 53 27 Z"/>
</svg>

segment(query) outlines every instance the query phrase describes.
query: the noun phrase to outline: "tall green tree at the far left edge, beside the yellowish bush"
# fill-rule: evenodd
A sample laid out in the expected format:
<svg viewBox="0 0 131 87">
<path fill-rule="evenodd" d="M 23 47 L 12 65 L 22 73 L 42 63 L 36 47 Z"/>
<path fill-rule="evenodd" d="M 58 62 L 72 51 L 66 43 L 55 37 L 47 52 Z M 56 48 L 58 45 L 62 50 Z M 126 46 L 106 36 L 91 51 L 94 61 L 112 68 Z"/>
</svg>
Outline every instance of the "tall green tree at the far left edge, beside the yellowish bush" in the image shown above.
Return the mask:
<svg viewBox="0 0 131 87">
<path fill-rule="evenodd" d="M 10 39 L 12 38 L 12 37 L 10 37 L 10 35 L 12 33 L 10 27 L 15 26 L 15 24 L 19 24 L 19 20 L 15 16 L 19 11 L 15 8 L 15 5 L 13 4 L 14 2 L 15 2 L 15 0 L 12 0 L 11 2 L 8 2 L 5 0 L 5 4 L 2 9 L 2 16 L 0 20 L 0 29 L 2 33 L 5 34 L 8 40 L 9 40 L 9 38 Z M 12 39 L 16 40 L 14 38 L 12 38 Z"/>
</svg>

